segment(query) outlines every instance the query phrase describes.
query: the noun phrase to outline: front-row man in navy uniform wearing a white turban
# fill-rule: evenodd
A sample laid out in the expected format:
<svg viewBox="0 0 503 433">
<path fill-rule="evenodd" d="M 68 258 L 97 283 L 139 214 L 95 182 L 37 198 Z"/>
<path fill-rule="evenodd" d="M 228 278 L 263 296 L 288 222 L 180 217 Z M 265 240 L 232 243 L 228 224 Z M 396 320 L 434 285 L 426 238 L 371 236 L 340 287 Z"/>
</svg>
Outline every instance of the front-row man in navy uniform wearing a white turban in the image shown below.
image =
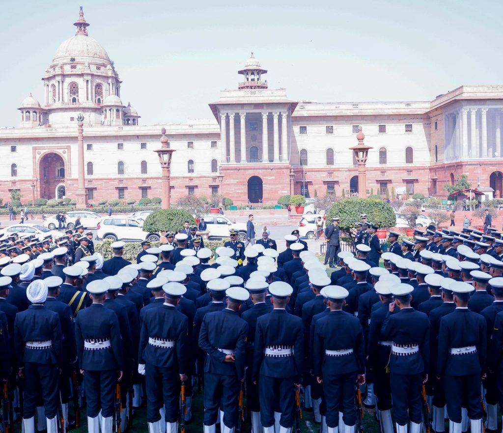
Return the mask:
<svg viewBox="0 0 503 433">
<path fill-rule="evenodd" d="M 34 433 L 37 392 L 41 392 L 47 433 L 57 433 L 58 367 L 63 362 L 59 316 L 44 306 L 47 284 L 36 280 L 27 288 L 32 305 L 16 315 L 14 342 L 19 377 L 24 379 L 23 431 Z"/>
</svg>

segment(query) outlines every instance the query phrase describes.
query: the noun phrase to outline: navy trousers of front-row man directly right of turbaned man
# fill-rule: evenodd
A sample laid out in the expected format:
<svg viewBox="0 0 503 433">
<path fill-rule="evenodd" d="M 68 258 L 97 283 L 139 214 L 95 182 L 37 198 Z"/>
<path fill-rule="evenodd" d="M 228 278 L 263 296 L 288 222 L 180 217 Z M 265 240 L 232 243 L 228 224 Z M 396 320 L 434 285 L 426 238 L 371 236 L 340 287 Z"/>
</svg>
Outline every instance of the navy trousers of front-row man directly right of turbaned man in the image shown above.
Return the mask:
<svg viewBox="0 0 503 433">
<path fill-rule="evenodd" d="M 96 418 L 100 410 L 104 418 L 114 416 L 117 370 L 86 370 L 82 383 L 88 416 Z"/>
</svg>

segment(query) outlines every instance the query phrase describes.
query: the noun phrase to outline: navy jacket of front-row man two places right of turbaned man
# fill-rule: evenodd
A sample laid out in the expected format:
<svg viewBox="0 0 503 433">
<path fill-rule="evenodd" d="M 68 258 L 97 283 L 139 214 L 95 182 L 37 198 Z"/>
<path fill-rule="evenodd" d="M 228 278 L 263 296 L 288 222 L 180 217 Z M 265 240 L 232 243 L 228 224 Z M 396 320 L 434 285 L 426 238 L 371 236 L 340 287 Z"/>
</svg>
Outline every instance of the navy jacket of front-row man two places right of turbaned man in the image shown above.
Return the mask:
<svg viewBox="0 0 503 433">
<path fill-rule="evenodd" d="M 138 364 L 151 364 L 186 374 L 186 352 L 188 345 L 187 317 L 173 305 L 162 304 L 145 312 L 140 333 Z M 148 338 L 172 340 L 175 347 L 157 347 L 149 344 Z"/>
</svg>

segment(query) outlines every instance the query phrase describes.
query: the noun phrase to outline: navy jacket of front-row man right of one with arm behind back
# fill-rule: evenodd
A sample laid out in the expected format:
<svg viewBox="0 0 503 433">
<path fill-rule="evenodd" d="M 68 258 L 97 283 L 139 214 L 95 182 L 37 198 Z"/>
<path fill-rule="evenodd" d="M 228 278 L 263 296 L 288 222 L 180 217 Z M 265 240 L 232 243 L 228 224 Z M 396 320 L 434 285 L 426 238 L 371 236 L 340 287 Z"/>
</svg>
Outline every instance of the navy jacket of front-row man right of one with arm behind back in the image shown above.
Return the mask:
<svg viewBox="0 0 503 433">
<path fill-rule="evenodd" d="M 304 336 L 302 319 L 288 314 L 284 309 L 274 309 L 257 319 L 252 379 L 257 382 L 259 374 L 275 378 L 294 378 L 300 383 L 304 360 Z M 266 347 L 284 346 L 293 349 L 291 356 L 265 356 Z"/>
</svg>

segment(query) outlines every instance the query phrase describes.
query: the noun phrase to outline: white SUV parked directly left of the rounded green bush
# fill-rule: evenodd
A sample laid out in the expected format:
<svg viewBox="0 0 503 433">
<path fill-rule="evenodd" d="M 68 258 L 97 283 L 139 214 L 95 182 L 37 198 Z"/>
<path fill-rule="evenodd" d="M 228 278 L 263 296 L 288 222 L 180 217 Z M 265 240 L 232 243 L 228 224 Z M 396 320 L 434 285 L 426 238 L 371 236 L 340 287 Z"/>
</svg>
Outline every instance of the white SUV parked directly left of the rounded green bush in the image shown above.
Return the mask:
<svg viewBox="0 0 503 433">
<path fill-rule="evenodd" d="M 98 240 L 112 239 L 112 241 L 141 242 L 148 239 L 151 242 L 158 242 L 158 233 L 148 233 L 143 231 L 143 224 L 127 216 L 105 216 L 101 223 L 98 223 L 96 234 Z"/>
</svg>

